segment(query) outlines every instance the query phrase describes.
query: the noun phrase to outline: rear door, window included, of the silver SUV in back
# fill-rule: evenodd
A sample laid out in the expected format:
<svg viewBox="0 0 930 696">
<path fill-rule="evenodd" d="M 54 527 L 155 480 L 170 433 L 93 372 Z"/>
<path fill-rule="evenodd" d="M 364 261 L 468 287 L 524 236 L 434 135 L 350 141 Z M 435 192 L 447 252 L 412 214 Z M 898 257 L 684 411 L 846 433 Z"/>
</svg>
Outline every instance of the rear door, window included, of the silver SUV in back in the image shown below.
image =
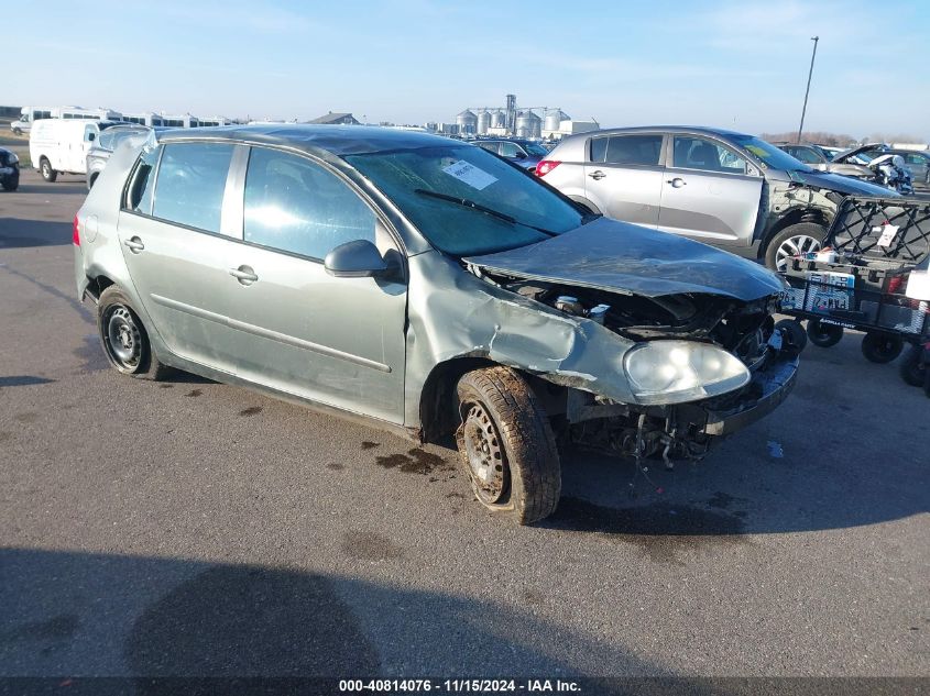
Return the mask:
<svg viewBox="0 0 930 696">
<path fill-rule="evenodd" d="M 655 228 L 664 167 L 661 133 L 592 137 L 584 165 L 584 195 L 609 218 Z"/>
</svg>

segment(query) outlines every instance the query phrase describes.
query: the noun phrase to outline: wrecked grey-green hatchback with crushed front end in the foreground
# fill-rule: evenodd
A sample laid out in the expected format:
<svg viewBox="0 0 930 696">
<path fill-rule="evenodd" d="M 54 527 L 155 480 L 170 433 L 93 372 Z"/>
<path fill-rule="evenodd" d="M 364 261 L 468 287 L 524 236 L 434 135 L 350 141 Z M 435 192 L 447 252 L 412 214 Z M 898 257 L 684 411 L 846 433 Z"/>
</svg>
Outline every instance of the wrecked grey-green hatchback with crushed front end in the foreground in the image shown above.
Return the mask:
<svg viewBox="0 0 930 696">
<path fill-rule="evenodd" d="M 556 434 L 699 457 L 790 391 L 781 280 L 583 212 L 467 143 L 363 126 L 151 133 L 75 218 L 112 366 L 455 435 L 475 497 L 555 510 Z"/>
</svg>

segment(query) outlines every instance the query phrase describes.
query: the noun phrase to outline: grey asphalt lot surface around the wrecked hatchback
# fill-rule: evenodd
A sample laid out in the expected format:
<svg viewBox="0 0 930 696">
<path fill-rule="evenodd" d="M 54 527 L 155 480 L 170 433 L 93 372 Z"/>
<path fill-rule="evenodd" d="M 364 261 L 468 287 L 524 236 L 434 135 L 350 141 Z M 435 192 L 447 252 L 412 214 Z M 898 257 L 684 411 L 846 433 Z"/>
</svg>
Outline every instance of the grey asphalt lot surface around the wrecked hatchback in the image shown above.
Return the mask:
<svg viewBox="0 0 930 696">
<path fill-rule="evenodd" d="M 930 675 L 930 400 L 857 336 L 635 498 L 566 453 L 510 527 L 451 450 L 108 368 L 84 195 L 0 192 L 0 676 Z"/>
</svg>

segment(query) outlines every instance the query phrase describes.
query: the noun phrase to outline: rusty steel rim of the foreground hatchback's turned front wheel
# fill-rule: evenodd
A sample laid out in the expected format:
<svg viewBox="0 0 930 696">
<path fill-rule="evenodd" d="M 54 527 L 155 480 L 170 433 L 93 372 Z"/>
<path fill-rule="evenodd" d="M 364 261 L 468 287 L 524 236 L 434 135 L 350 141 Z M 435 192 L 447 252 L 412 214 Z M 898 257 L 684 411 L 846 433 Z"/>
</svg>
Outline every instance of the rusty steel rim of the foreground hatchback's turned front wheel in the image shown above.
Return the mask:
<svg viewBox="0 0 930 696">
<path fill-rule="evenodd" d="M 500 502 L 506 493 L 510 467 L 501 435 L 484 406 L 469 405 L 462 431 L 475 495 L 482 502 Z"/>
</svg>

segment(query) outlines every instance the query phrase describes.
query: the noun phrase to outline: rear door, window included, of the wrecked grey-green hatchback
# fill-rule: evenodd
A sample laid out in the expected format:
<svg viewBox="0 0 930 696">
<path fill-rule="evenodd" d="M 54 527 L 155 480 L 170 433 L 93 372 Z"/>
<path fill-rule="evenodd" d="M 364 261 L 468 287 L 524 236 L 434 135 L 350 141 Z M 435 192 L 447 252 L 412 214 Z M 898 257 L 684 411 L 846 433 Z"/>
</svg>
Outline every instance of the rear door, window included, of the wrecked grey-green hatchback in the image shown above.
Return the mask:
<svg viewBox="0 0 930 696">
<path fill-rule="evenodd" d="M 232 374 L 227 321 L 237 229 L 223 208 L 236 146 L 172 143 L 144 152 L 120 211 L 118 234 L 152 328 L 176 355 Z M 244 156 L 245 148 L 241 148 Z"/>
</svg>

